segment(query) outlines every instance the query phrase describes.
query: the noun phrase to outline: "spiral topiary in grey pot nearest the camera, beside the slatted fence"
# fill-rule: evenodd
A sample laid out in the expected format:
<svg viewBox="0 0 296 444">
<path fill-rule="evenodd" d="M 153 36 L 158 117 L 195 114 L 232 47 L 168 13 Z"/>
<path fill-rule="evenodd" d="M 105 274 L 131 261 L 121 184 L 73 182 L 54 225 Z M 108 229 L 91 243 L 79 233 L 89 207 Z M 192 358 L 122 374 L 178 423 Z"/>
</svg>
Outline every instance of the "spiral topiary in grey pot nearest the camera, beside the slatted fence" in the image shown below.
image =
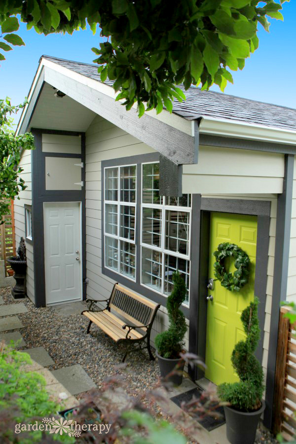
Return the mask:
<svg viewBox="0 0 296 444">
<path fill-rule="evenodd" d="M 246 340 L 237 342 L 231 362 L 239 382 L 223 383 L 218 395 L 223 402 L 226 418 L 226 436 L 231 444 L 253 444 L 259 418 L 265 408 L 262 400 L 264 391 L 263 370 L 254 352 L 257 348 L 260 329 L 257 297 L 241 314 Z"/>
</svg>

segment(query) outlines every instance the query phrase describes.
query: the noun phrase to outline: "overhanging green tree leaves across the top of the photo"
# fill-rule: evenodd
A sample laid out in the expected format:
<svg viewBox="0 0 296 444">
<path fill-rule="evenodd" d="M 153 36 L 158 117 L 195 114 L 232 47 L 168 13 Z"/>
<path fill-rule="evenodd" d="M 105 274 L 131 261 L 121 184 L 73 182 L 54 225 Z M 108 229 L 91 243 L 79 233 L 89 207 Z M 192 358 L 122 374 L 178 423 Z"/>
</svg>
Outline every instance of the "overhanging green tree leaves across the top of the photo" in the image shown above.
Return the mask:
<svg viewBox="0 0 296 444">
<path fill-rule="evenodd" d="M 286 0 L 280 0 L 282 4 Z M 289 1 L 289 0 L 288 0 Z M 269 29 L 267 16 L 282 20 L 282 6 L 273 0 L 9 0 L 0 4 L 5 42 L 0 49 L 23 45 L 15 34 L 18 18 L 37 33 L 70 33 L 101 27 L 108 41 L 92 48 L 98 56 L 101 79 L 114 81 L 129 110 L 135 102 L 139 116 L 147 110 L 172 111 L 172 100 L 185 98 L 185 89 L 213 83 L 223 91 L 233 82 L 232 71 L 242 70 L 245 59 L 259 44 L 258 24 Z M 259 6 L 260 5 L 260 6 Z M 0 60 L 4 55 L 0 54 Z"/>
</svg>

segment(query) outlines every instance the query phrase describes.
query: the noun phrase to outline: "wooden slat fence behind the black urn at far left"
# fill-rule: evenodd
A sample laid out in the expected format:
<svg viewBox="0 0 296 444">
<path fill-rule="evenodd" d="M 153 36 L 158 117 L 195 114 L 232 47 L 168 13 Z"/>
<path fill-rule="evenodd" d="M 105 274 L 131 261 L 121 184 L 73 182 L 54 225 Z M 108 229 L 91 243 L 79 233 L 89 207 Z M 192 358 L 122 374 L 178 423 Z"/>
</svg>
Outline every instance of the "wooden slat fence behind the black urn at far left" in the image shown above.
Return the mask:
<svg viewBox="0 0 296 444">
<path fill-rule="evenodd" d="M 0 225 L 0 259 L 4 259 L 5 275 L 13 274 L 7 259 L 10 256 L 15 256 L 15 234 L 14 234 L 14 209 L 13 200 L 9 205 L 10 213 L 2 216 L 2 223 Z"/>
</svg>

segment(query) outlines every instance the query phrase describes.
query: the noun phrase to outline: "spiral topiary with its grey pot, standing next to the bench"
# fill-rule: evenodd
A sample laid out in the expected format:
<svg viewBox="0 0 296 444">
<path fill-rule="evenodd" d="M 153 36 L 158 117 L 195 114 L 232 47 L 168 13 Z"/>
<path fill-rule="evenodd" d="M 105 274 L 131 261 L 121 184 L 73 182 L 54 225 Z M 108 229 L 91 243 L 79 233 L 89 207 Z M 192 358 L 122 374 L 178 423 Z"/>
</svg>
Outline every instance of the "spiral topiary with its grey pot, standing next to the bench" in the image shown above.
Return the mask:
<svg viewBox="0 0 296 444">
<path fill-rule="evenodd" d="M 185 316 L 180 310 L 180 306 L 185 301 L 186 286 L 178 270 L 173 274 L 172 280 L 174 288 L 168 296 L 166 305 L 170 325 L 167 331 L 157 334 L 155 345 L 161 376 L 167 377 L 167 380 L 175 385 L 180 385 L 185 365 L 180 353 L 184 347 L 184 337 L 187 330 Z M 176 371 L 173 372 L 174 369 Z"/>
</svg>

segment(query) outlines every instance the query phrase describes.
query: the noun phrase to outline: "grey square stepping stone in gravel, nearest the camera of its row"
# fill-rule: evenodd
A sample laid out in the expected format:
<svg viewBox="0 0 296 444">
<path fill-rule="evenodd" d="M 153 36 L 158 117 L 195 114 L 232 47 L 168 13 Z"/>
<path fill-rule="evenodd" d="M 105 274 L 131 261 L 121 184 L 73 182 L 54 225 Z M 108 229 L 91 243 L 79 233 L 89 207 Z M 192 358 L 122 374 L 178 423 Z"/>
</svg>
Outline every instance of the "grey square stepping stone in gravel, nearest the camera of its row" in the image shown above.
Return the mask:
<svg viewBox="0 0 296 444">
<path fill-rule="evenodd" d="M 58 370 L 52 370 L 52 374 L 62 385 L 64 385 L 71 395 L 87 392 L 96 387 L 94 381 L 79 364 L 71 367 L 63 367 Z"/>
</svg>

